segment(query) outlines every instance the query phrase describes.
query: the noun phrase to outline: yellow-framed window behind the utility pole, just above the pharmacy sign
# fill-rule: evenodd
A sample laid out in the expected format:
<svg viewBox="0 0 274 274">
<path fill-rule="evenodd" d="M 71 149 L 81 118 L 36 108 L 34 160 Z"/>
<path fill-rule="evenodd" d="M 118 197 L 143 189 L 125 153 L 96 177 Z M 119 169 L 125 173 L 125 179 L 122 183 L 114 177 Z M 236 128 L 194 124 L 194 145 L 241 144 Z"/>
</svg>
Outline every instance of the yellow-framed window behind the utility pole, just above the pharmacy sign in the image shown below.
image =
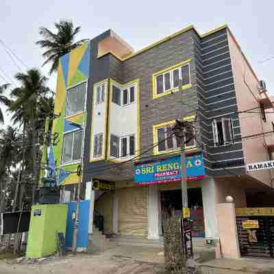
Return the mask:
<svg viewBox="0 0 274 274">
<path fill-rule="evenodd" d="M 195 116 L 189 116 L 184 118 L 184 120 L 192 121 L 194 118 Z M 173 125 L 175 125 L 175 121 L 153 125 L 153 143 L 158 143 L 158 146 L 154 147 L 154 154 L 162 154 L 166 152 L 172 153 L 180 150 L 180 147 L 177 145 L 175 135 L 172 132 Z M 185 147 L 186 149 L 195 149 L 195 138 L 187 142 Z"/>
</svg>

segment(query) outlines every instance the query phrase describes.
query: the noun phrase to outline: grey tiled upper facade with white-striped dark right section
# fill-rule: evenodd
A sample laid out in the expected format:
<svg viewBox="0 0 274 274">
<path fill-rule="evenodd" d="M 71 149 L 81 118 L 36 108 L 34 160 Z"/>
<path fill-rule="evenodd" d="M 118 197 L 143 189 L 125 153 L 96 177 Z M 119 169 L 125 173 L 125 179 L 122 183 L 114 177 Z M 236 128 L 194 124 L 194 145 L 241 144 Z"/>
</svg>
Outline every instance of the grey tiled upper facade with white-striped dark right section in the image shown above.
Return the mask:
<svg viewBox="0 0 274 274">
<path fill-rule="evenodd" d="M 199 128 L 198 141 L 203 144 L 207 175 L 229 175 L 223 169 L 222 163 L 228 163 L 234 158 L 242 158 L 242 145 L 213 147 L 212 119 L 215 116 L 227 116 L 234 119 L 234 134 L 240 136 L 238 116 L 231 114 L 238 110 L 236 105 L 232 66 L 227 42 L 227 29 L 221 29 L 200 38 L 194 29 L 166 40 L 151 49 L 134 55 L 125 61 L 117 59 L 111 53 L 97 58 L 97 44 L 99 40 L 108 36 L 108 32 L 101 34 L 91 41 L 90 77 L 88 80 L 88 119 L 84 147 L 84 181 L 90 181 L 97 175 L 114 175 L 119 180 L 133 179 L 133 164 L 111 166 L 106 161 L 88 162 L 90 153 L 90 123 L 91 99 L 93 84 L 111 77 L 125 84 L 134 79 L 140 83 L 140 150 L 147 150 L 153 146 L 153 125 L 180 119 L 182 116 L 195 114 L 198 110 L 197 127 Z M 152 75 L 169 66 L 184 60 L 190 61 L 191 88 L 182 92 L 174 92 L 158 99 L 153 99 Z M 218 119 L 218 118 L 216 118 Z M 200 148 L 201 150 L 201 148 Z M 225 153 L 224 153 L 225 152 Z M 153 149 L 142 157 L 153 156 Z M 166 156 L 168 157 L 168 156 Z M 231 162 L 231 161 L 230 161 Z M 231 162 L 230 168 L 240 174 L 241 162 Z M 225 165 L 224 165 L 225 166 Z M 109 168 L 108 168 L 109 167 Z M 102 168 L 105 170 L 100 171 Z"/>
</svg>

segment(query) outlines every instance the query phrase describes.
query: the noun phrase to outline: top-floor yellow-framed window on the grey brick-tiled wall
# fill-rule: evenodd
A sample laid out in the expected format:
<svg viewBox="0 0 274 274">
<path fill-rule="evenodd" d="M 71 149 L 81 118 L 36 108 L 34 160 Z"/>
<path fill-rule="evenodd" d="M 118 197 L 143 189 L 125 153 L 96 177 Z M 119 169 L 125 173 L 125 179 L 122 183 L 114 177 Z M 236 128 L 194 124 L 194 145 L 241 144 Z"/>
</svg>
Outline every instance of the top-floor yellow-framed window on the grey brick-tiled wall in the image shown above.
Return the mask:
<svg viewBox="0 0 274 274">
<path fill-rule="evenodd" d="M 180 82 L 182 83 L 182 89 L 190 88 L 190 59 L 154 73 L 152 81 L 153 99 L 179 90 Z"/>
</svg>

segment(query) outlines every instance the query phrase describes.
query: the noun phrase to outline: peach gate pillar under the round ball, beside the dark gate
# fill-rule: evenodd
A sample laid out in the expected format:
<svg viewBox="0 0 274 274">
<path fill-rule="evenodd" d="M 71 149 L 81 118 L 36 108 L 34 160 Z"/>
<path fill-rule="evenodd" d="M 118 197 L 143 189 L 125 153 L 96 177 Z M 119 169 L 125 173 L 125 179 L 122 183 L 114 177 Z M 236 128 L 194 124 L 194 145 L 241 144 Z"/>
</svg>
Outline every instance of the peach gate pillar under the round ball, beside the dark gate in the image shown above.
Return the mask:
<svg viewBox="0 0 274 274">
<path fill-rule="evenodd" d="M 219 203 L 216 206 L 221 254 L 223 258 L 240 258 L 238 232 L 234 203 Z"/>
</svg>

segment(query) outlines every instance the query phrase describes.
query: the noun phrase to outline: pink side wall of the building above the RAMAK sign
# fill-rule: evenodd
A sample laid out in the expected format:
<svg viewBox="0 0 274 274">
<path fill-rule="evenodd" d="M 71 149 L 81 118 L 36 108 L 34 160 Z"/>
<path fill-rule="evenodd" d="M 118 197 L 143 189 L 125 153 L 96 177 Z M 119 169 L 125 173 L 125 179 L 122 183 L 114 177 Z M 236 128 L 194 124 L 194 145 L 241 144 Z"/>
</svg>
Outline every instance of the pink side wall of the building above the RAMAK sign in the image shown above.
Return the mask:
<svg viewBox="0 0 274 274">
<path fill-rule="evenodd" d="M 227 29 L 227 36 L 232 60 L 238 111 L 256 108 L 259 106 L 258 99 L 261 98 L 258 90 L 258 78 L 245 59 L 245 56 L 229 29 Z M 253 111 L 260 112 L 260 108 Z M 239 121 L 242 137 L 273 130 L 271 124 L 273 117 L 271 117 L 270 114 L 267 115 L 266 122 L 264 122 L 262 121 L 260 114 L 243 113 L 239 114 Z M 269 152 L 266 147 L 264 147 L 266 141 L 274 143 L 273 135 L 269 137 L 260 136 L 252 139 L 247 138 L 242 141 L 242 149 L 246 164 L 269 160 Z M 271 172 L 271 170 L 252 171 L 248 173 L 248 175 L 251 175 L 260 182 L 270 186 Z"/>
</svg>

